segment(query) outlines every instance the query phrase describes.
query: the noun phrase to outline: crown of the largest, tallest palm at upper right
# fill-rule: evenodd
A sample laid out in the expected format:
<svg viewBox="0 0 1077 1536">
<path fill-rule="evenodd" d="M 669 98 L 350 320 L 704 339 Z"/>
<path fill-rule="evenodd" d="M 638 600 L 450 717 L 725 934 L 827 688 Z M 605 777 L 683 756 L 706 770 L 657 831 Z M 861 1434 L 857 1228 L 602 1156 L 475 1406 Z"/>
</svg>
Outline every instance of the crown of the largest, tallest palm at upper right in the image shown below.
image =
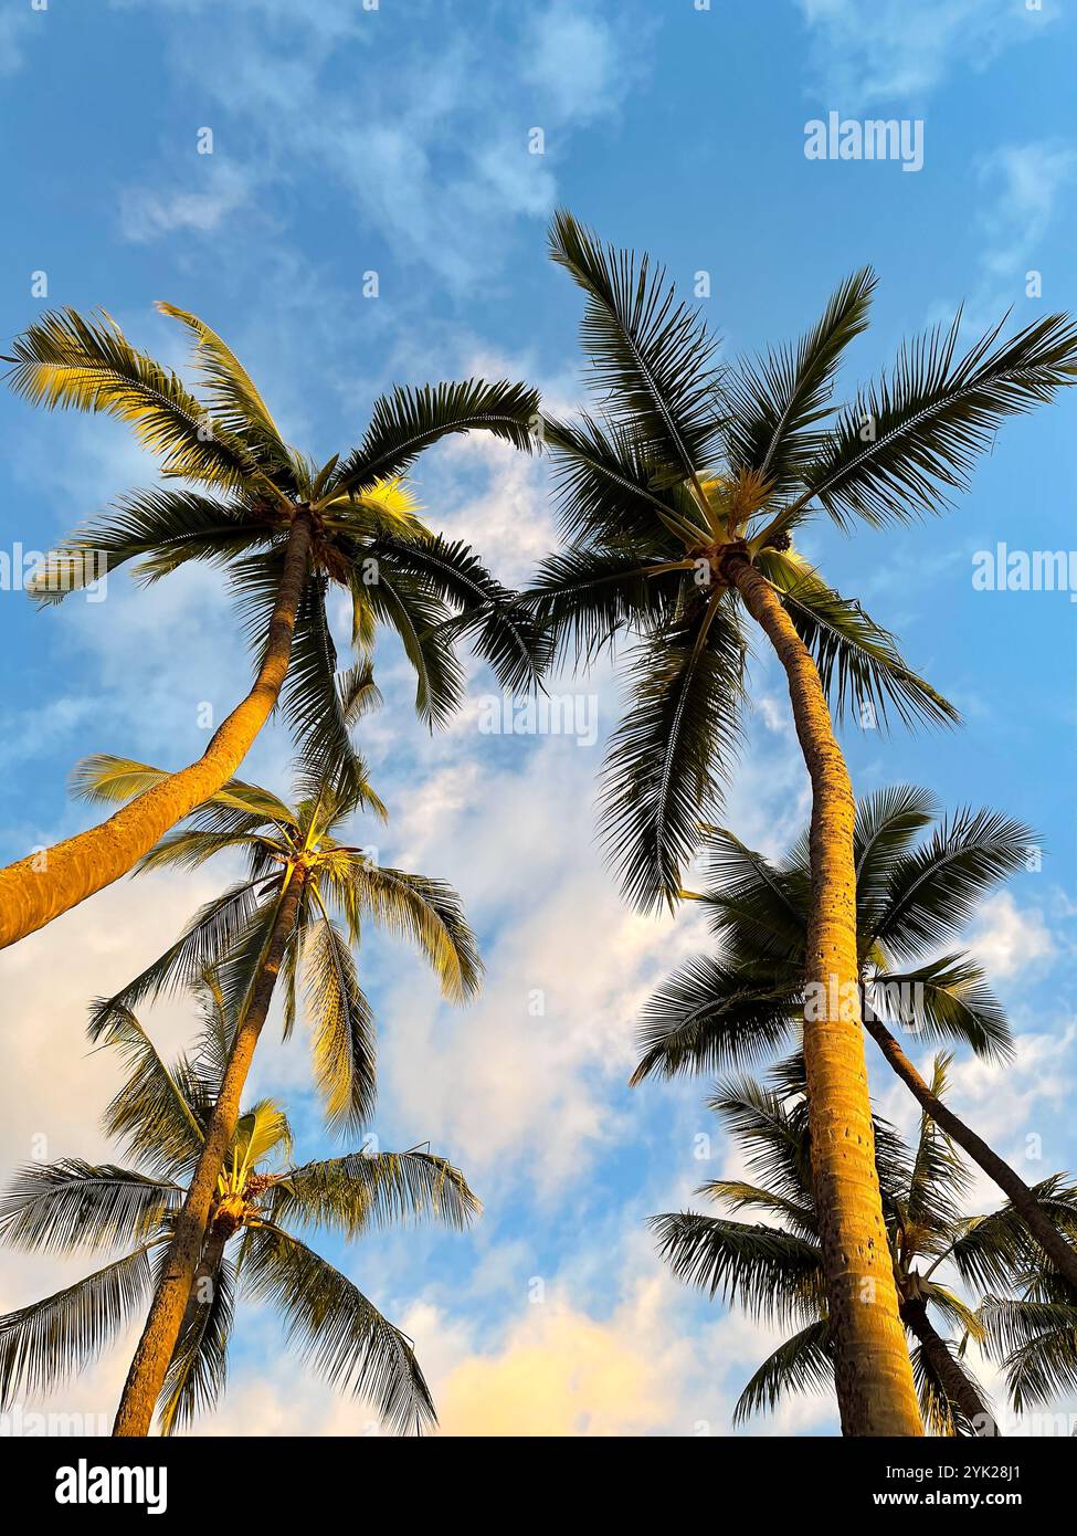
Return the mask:
<svg viewBox="0 0 1077 1536">
<path fill-rule="evenodd" d="M 731 558 L 779 594 L 839 717 L 870 705 L 883 723 L 888 708 L 954 720 L 791 536 L 819 510 L 842 528 L 940 511 L 1002 418 L 1074 382 L 1077 327 L 1052 315 L 1006 341 L 994 329 L 960 356 L 959 316 L 839 409 L 868 269 L 796 349 L 724 369 L 699 313 L 647 257 L 604 249 L 564 212 L 552 253 L 587 295 L 581 339 L 599 402 L 575 424 L 544 421 L 567 545 L 539 568 L 532 601 L 552 641 L 588 660 L 619 636 L 635 642 L 601 826 L 625 892 L 653 908 L 676 900 L 739 742 L 748 641 Z"/>
</svg>

